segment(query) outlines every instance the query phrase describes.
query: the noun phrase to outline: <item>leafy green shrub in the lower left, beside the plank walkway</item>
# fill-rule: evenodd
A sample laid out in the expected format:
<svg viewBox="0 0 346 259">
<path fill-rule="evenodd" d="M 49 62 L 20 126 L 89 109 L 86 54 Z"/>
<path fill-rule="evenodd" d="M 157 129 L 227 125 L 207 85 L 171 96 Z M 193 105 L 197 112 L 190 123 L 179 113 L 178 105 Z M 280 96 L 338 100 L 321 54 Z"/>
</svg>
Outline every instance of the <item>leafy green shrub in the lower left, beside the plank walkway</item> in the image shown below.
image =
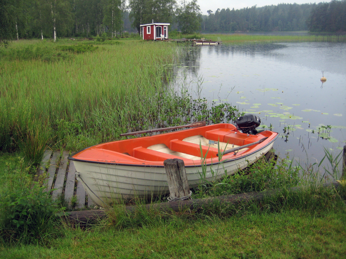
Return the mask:
<svg viewBox="0 0 346 259">
<path fill-rule="evenodd" d="M 45 187 L 17 184 L 0 193 L 0 240 L 4 243 L 44 243 L 57 233 L 58 209 Z"/>
</svg>

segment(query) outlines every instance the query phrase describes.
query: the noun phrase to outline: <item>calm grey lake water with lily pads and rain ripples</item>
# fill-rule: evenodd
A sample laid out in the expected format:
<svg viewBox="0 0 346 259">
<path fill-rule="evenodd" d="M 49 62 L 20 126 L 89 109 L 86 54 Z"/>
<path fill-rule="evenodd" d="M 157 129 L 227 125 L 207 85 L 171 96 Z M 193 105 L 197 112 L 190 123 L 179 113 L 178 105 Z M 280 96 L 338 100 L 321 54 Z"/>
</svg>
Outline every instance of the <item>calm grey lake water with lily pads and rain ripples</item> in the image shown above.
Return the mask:
<svg viewBox="0 0 346 259">
<path fill-rule="evenodd" d="M 272 125 L 280 133 L 274 148 L 281 157 L 288 153 L 303 164 L 320 162 L 324 147 L 339 154 L 345 145 L 345 43 L 187 47 L 177 76 L 181 73 L 202 78 L 201 98 L 260 116 L 259 129 Z M 327 125 L 326 133 L 322 126 Z"/>
</svg>

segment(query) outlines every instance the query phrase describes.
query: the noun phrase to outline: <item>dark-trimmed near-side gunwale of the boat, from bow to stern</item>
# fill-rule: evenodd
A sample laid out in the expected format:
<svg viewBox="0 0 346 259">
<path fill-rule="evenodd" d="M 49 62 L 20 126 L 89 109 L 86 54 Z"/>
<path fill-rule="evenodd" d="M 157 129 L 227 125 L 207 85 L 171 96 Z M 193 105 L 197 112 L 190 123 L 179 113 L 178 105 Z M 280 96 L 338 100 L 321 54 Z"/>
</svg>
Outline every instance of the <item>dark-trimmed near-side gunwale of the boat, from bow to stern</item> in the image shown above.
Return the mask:
<svg viewBox="0 0 346 259">
<path fill-rule="evenodd" d="M 221 163 L 228 163 L 228 162 L 233 162 L 233 161 L 236 161 L 236 160 L 239 160 L 239 159 L 243 159 L 244 157 L 246 156 L 249 156 L 249 155 L 252 155 L 260 150 L 262 150 L 263 148 L 267 147 L 268 145 L 270 145 L 271 143 L 273 143 L 276 138 L 279 136 L 279 133 L 277 132 L 274 132 L 276 133 L 276 136 L 270 141 L 268 142 L 265 146 L 261 147 L 261 149 L 258 149 L 258 150 L 255 150 L 251 153 L 244 153 L 244 155 L 242 156 L 239 156 L 235 159 L 225 159 L 225 160 L 222 160 L 222 161 L 219 161 L 219 162 L 216 162 L 216 163 L 208 163 L 208 164 L 205 164 L 203 166 L 210 166 L 210 165 L 216 165 L 216 164 L 221 164 Z M 93 145 L 95 146 L 95 145 Z M 67 157 L 67 159 L 71 160 L 71 161 L 77 161 L 77 162 L 84 162 L 84 163 L 93 163 L 93 164 L 106 164 L 106 165 L 120 165 L 120 166 L 138 166 L 138 167 L 164 167 L 163 165 L 147 165 L 147 164 L 123 164 L 123 163 L 115 163 L 115 162 L 101 162 L 101 161 L 91 161 L 91 160 L 83 160 L 83 159 L 76 159 L 74 158 L 73 156 L 75 154 L 78 154 L 90 147 L 93 147 L 93 146 L 89 146 L 89 147 L 86 147 L 86 148 L 83 148 L 82 150 L 80 151 L 77 151 L 73 154 L 71 154 L 69 157 Z M 198 164 L 198 165 L 185 165 L 185 167 L 201 167 L 202 164 Z"/>
</svg>

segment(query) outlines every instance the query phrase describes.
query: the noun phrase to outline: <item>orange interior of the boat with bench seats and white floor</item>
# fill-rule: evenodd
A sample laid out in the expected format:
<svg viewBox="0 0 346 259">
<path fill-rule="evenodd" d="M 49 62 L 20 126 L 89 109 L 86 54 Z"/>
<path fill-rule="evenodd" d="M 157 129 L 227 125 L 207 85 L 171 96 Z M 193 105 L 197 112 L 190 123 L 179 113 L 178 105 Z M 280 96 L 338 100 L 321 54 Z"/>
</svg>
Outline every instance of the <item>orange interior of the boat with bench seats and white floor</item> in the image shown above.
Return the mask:
<svg viewBox="0 0 346 259">
<path fill-rule="evenodd" d="M 222 160 L 236 159 L 255 152 L 274 141 L 278 133 L 264 131 L 257 135 L 237 131 L 233 124 L 214 124 L 148 137 L 135 137 L 88 147 L 74 155 L 73 160 L 94 163 L 163 166 L 166 159 L 179 158 L 185 166 L 201 164 L 201 156 L 207 164 L 219 162 L 219 150 L 254 143 L 264 137 L 264 142 L 223 155 Z M 201 152 L 202 151 L 202 152 Z"/>
</svg>

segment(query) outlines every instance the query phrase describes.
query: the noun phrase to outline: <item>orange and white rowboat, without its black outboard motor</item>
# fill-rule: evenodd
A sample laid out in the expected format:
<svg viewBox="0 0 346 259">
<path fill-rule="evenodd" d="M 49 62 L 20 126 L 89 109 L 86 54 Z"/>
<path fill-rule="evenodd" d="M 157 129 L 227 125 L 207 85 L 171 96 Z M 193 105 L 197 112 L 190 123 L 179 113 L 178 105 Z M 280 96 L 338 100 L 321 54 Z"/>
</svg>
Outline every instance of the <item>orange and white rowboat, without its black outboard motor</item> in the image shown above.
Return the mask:
<svg viewBox="0 0 346 259">
<path fill-rule="evenodd" d="M 226 173 L 234 174 L 254 163 L 273 147 L 278 133 L 242 133 L 233 124 L 214 124 L 188 130 L 130 138 L 85 148 L 69 157 L 88 196 L 104 207 L 113 199 L 169 192 L 163 161 L 184 160 L 191 187 Z M 262 143 L 217 156 L 231 148 Z M 202 154 L 201 154 L 202 150 Z M 201 157 L 206 159 L 202 162 Z M 202 166 L 206 166 L 204 175 Z M 203 175 L 203 176 L 202 176 Z"/>
</svg>

